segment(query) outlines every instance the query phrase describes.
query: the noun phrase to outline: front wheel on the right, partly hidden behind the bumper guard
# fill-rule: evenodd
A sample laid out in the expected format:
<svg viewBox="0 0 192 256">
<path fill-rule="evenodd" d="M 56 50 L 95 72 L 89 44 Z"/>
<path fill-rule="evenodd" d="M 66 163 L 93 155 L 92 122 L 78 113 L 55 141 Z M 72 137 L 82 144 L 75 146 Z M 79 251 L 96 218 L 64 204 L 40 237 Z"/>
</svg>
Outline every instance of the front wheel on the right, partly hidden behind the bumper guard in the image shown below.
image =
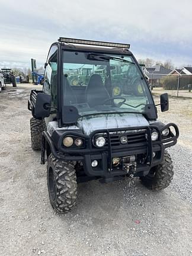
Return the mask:
<svg viewBox="0 0 192 256">
<path fill-rule="evenodd" d="M 145 177 L 140 177 L 143 185 L 151 190 L 162 190 L 171 183 L 174 175 L 171 156 L 167 151 L 164 153 L 164 159 L 161 164 L 152 167 L 151 171 Z"/>
</svg>

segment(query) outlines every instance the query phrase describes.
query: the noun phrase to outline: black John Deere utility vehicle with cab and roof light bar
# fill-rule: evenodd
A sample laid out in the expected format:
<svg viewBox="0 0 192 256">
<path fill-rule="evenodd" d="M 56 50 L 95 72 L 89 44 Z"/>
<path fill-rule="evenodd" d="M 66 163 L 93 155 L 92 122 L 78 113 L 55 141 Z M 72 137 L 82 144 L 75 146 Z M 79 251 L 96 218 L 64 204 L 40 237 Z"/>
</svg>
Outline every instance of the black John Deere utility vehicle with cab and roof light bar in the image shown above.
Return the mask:
<svg viewBox="0 0 192 256">
<path fill-rule="evenodd" d="M 122 64 L 129 76 L 114 74 L 114 66 Z M 88 83 L 71 84 L 69 78 L 84 66 L 90 70 Z M 28 100 L 31 146 L 41 150 L 41 164 L 47 159 L 50 203 L 57 212 L 75 205 L 77 184 L 88 180 L 140 177 L 152 190 L 169 185 L 173 168 L 166 148 L 177 143 L 178 127 L 157 120 L 129 44 L 60 37 L 45 68 L 43 91 L 33 89 Z M 105 76 L 97 72 L 101 68 Z M 120 96 L 114 95 L 113 79 L 116 87 L 123 79 Z M 168 110 L 167 94 L 159 105 Z"/>
</svg>

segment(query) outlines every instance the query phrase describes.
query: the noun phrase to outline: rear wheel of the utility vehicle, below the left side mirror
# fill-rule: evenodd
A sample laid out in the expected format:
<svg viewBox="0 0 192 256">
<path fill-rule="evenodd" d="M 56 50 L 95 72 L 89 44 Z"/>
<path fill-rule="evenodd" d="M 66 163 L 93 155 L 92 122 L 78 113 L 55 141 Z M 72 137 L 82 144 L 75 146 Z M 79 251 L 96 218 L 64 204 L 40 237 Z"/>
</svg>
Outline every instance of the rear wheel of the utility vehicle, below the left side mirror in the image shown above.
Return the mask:
<svg viewBox="0 0 192 256">
<path fill-rule="evenodd" d="M 43 120 L 32 117 L 30 119 L 31 148 L 35 151 L 41 150 L 41 140 L 43 132 Z"/>
</svg>

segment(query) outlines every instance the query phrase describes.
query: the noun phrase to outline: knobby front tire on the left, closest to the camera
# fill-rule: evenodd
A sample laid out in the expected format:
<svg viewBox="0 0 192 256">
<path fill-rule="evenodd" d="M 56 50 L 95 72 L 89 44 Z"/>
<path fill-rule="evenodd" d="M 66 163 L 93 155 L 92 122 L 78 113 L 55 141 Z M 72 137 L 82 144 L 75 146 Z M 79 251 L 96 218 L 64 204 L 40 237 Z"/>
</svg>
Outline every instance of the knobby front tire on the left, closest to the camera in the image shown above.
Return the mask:
<svg viewBox="0 0 192 256">
<path fill-rule="evenodd" d="M 59 213 L 72 209 L 76 202 L 76 172 L 72 162 L 60 161 L 52 154 L 47 160 L 47 187 L 50 204 Z"/>
</svg>

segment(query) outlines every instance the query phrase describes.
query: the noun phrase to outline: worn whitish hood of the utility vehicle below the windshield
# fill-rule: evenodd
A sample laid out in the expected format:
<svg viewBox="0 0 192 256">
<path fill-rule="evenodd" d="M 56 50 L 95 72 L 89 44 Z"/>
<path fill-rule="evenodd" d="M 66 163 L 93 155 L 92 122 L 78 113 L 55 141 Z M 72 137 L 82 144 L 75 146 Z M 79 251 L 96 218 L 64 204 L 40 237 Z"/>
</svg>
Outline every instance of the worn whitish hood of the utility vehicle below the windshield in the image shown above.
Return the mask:
<svg viewBox="0 0 192 256">
<path fill-rule="evenodd" d="M 76 126 L 85 135 L 89 135 L 94 130 L 149 126 L 149 122 L 142 114 L 101 114 L 83 117 L 81 120 L 78 120 Z"/>
</svg>

